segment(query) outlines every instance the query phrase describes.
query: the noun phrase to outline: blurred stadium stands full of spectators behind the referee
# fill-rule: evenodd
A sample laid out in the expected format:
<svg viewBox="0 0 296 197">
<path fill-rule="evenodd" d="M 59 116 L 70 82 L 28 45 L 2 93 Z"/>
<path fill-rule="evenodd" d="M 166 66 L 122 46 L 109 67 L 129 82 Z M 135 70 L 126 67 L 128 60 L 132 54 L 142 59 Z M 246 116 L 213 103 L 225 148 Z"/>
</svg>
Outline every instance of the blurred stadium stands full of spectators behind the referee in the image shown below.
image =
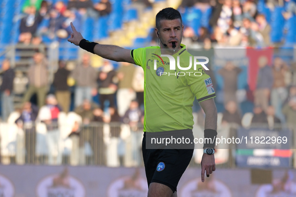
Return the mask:
<svg viewBox="0 0 296 197">
<path fill-rule="evenodd" d="M 181 12 L 187 48 L 212 58 L 220 128 L 296 126 L 294 0 L 0 0 L 0 6 L 3 163 L 141 165 L 142 68 L 86 53 L 67 38 L 72 21 L 88 40 L 158 45 L 155 14 L 166 6 Z M 231 48 L 245 54 L 239 62 Z M 193 114 L 195 128 L 203 128 L 197 101 Z"/>
</svg>

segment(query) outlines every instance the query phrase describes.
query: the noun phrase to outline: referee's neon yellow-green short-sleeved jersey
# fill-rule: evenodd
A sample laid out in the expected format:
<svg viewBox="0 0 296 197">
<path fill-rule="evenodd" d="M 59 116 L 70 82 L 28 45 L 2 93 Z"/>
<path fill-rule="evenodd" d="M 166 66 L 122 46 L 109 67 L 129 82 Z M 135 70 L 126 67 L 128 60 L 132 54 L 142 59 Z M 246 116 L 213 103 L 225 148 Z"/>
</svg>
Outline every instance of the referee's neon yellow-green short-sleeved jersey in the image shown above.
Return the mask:
<svg viewBox="0 0 296 197">
<path fill-rule="evenodd" d="M 171 57 L 161 56 L 159 46 L 131 50 L 135 63 L 142 66 L 145 74 L 144 131 L 192 129 L 194 97 L 199 102 L 215 97 L 209 75 L 200 64 L 194 66 L 194 56 L 185 45 L 181 47 L 171 55 L 175 59 L 175 69 L 172 69 Z"/>
</svg>

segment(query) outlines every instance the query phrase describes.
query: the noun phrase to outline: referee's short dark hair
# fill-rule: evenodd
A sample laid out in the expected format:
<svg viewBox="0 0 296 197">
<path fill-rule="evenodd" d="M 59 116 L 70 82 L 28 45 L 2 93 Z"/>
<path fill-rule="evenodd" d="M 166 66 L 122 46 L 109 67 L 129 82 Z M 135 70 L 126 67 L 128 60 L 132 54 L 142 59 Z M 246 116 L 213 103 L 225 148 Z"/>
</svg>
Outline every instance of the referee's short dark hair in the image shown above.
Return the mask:
<svg viewBox="0 0 296 197">
<path fill-rule="evenodd" d="M 172 7 L 166 7 L 156 14 L 155 24 L 156 28 L 160 28 L 160 20 L 174 20 L 180 18 L 182 24 L 182 17 L 178 10 Z"/>
</svg>

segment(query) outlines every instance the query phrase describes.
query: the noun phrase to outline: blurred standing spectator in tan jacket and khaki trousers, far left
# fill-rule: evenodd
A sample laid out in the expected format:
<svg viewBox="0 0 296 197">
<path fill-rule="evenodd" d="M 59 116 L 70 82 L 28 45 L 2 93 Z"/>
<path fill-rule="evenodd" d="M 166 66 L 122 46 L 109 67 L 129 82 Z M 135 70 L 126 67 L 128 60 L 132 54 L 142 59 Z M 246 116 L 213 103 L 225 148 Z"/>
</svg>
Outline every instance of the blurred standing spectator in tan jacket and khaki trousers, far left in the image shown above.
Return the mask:
<svg viewBox="0 0 296 197">
<path fill-rule="evenodd" d="M 45 96 L 48 90 L 47 60 L 44 54 L 36 52 L 33 56 L 34 63 L 28 70 L 29 89 L 24 95 L 24 101 L 29 101 L 34 93 L 37 93 L 38 106 L 44 105 Z"/>
</svg>

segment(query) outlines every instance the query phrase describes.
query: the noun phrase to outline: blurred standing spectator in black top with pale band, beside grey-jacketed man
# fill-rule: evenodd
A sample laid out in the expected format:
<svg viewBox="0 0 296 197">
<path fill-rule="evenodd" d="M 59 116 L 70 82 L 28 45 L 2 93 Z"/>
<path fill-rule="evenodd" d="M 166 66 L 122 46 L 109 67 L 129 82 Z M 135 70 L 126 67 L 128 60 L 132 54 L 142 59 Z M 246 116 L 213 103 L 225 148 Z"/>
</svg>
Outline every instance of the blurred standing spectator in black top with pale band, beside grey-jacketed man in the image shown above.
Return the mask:
<svg viewBox="0 0 296 197">
<path fill-rule="evenodd" d="M 116 71 L 108 60 L 104 60 L 104 64 L 99 72 L 97 79 L 99 84 L 99 96 L 102 109 L 105 109 L 105 101 L 109 101 L 109 106 L 115 107 Z M 121 98 L 122 99 L 122 98 Z"/>
</svg>

